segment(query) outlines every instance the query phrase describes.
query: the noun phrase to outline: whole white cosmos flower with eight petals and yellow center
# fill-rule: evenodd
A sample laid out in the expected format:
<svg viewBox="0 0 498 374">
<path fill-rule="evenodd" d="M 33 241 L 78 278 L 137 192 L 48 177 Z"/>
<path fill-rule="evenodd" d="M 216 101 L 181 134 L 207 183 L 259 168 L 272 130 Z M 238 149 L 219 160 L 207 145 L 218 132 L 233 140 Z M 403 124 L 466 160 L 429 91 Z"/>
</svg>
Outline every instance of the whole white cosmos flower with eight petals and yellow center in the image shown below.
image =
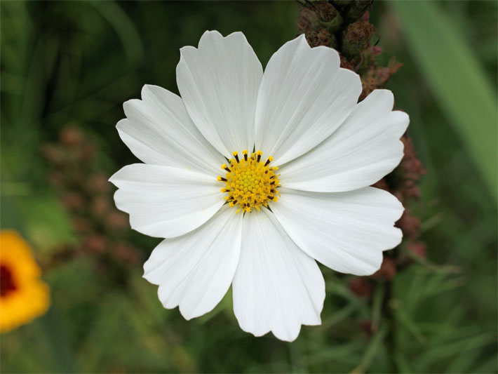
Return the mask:
<svg viewBox="0 0 498 374">
<path fill-rule="evenodd" d="M 358 103 L 359 76 L 304 35 L 264 73 L 241 32 L 205 32 L 180 52 L 182 97 L 144 86 L 117 124 L 144 163 L 110 179 L 116 206 L 133 229 L 166 238 L 144 278 L 185 319 L 210 312 L 231 285 L 243 330 L 295 340 L 302 324 L 321 323 L 316 260 L 372 274 L 401 242 L 403 206 L 368 186 L 401 161 L 408 115 L 392 111 L 387 90 Z"/>
</svg>

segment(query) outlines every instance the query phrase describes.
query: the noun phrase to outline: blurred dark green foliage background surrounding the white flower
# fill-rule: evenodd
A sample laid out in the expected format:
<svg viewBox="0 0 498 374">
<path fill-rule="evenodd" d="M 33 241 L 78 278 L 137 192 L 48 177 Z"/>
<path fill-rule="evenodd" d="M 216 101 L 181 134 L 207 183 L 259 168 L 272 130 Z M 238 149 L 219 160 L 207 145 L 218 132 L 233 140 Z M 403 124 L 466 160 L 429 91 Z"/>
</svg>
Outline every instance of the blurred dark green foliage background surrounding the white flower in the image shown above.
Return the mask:
<svg viewBox="0 0 498 374">
<path fill-rule="evenodd" d="M 100 185 L 92 211 L 93 184 L 80 185 L 136 162 L 114 128 L 121 105 L 143 84 L 177 93 L 179 48 L 206 29 L 240 30 L 265 65 L 295 36 L 300 5 L 1 1 L 0 10 L 1 228 L 32 244 L 53 298 L 45 316 L 1 335 L 2 373 L 497 372 L 496 1 L 373 5 L 381 58 L 404 64 L 387 88 L 410 114 L 428 171 L 411 206 L 426 260 L 375 283 L 370 297 L 322 267 L 323 324 L 292 343 L 244 333 L 230 295 L 192 321 L 163 309 L 141 278 L 159 239 L 119 215 L 105 220 L 112 187 Z M 365 321 L 378 328 L 365 332 Z"/>
</svg>

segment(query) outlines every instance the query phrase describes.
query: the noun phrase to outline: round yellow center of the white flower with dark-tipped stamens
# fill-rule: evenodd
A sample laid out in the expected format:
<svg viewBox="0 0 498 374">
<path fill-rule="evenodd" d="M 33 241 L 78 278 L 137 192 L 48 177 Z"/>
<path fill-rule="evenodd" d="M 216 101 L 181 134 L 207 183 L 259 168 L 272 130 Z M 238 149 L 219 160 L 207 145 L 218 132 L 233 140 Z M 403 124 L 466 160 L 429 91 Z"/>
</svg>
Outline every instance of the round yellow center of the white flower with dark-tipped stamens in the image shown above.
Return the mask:
<svg viewBox="0 0 498 374">
<path fill-rule="evenodd" d="M 273 157 L 269 156 L 267 161 L 261 161 L 263 152 L 257 151 L 248 156 L 247 149 L 242 152 L 243 159 L 238 158 L 238 152 L 234 152 L 234 159 L 229 160 L 229 165 L 224 163 L 222 169 L 227 174 L 218 180 L 225 183 L 221 192 L 227 193 L 224 199 L 229 206 L 237 206 L 240 211 L 250 212 L 252 208 L 260 210 L 260 206 L 268 207 L 268 201 L 277 201 L 278 175 L 274 172 L 276 166 L 270 166 Z"/>
</svg>

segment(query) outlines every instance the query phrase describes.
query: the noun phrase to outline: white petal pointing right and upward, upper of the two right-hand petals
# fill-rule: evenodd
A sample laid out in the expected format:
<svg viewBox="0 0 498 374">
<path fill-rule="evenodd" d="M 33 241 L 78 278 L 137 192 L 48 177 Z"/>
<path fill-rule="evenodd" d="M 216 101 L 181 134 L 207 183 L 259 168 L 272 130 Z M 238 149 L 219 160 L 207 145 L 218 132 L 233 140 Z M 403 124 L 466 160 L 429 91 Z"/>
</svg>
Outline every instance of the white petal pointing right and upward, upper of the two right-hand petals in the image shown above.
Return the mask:
<svg viewBox="0 0 498 374">
<path fill-rule="evenodd" d="M 391 173 L 403 158 L 401 135 L 410 119 L 392 112 L 393 95 L 376 90 L 330 137 L 280 168 L 281 184 L 316 192 L 366 187 Z"/>
</svg>

